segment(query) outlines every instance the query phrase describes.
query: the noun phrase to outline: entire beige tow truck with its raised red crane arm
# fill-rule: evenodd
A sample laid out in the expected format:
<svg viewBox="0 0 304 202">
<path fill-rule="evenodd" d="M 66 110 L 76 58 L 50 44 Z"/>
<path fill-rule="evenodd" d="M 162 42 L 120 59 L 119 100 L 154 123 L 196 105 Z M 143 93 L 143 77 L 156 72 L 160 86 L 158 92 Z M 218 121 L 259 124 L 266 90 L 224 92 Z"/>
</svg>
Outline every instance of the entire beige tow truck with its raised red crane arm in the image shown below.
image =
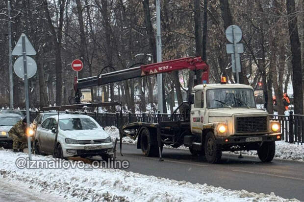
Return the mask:
<svg viewBox="0 0 304 202">
<path fill-rule="evenodd" d="M 150 76 L 174 70 L 195 72 L 194 88 L 188 102 L 181 103 L 179 120 L 157 123 L 133 122 L 120 126 L 122 138 L 137 139 L 137 148 L 147 157 L 162 160 L 162 148 L 184 145 L 192 155 L 205 156 L 209 163 L 217 163 L 223 151 L 256 150 L 263 162 L 274 158 L 276 144 L 281 140 L 280 124 L 269 119 L 265 111 L 257 110 L 253 88 L 243 84 L 228 84 L 222 77 L 220 84 L 208 84 L 209 67 L 201 57 L 187 57 L 93 77 L 75 78 L 75 101 L 80 103 L 80 89 Z M 201 72 L 197 83 L 197 74 Z"/>
</svg>

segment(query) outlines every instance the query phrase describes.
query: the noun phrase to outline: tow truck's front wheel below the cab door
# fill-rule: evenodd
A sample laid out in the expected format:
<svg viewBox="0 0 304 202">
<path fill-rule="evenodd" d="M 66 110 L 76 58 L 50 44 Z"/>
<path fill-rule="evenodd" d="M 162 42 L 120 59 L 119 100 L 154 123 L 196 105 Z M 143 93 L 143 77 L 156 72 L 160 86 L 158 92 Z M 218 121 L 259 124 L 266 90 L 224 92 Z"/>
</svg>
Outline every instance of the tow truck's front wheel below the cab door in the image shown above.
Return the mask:
<svg viewBox="0 0 304 202">
<path fill-rule="evenodd" d="M 208 132 L 205 137 L 205 157 L 209 163 L 218 163 L 222 157 L 221 145 L 216 144 L 216 139 L 212 132 Z"/>
</svg>

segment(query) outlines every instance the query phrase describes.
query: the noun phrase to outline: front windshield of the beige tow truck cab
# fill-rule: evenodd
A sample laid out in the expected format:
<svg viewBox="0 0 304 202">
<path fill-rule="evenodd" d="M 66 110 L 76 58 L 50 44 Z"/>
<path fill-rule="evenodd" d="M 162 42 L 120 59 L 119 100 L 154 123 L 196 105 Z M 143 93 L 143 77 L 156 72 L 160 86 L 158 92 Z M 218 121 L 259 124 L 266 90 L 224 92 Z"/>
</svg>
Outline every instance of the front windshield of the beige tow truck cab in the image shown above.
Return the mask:
<svg viewBox="0 0 304 202">
<path fill-rule="evenodd" d="M 207 108 L 255 108 L 251 89 L 210 89 L 206 93 Z"/>
</svg>

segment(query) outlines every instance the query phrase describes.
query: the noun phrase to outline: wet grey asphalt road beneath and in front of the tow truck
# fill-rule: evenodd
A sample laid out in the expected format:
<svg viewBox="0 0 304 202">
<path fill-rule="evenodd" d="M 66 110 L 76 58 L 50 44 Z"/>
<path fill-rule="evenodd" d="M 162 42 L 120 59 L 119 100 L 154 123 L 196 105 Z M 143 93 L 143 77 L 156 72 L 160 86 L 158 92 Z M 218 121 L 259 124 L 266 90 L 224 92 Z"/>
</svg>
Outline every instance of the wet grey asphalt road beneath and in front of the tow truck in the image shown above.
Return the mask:
<svg viewBox="0 0 304 202">
<path fill-rule="evenodd" d="M 219 164 L 209 164 L 205 159 L 192 157 L 189 151 L 166 148 L 164 161 L 160 162 L 158 158 L 143 156 L 133 144 L 123 144 L 122 151 L 124 156 L 117 154 L 117 159 L 130 162 L 127 171 L 232 190 L 274 192 L 286 199 L 304 201 L 304 163 L 287 160 L 262 163 L 258 157 L 240 159 L 224 154 Z"/>
</svg>

